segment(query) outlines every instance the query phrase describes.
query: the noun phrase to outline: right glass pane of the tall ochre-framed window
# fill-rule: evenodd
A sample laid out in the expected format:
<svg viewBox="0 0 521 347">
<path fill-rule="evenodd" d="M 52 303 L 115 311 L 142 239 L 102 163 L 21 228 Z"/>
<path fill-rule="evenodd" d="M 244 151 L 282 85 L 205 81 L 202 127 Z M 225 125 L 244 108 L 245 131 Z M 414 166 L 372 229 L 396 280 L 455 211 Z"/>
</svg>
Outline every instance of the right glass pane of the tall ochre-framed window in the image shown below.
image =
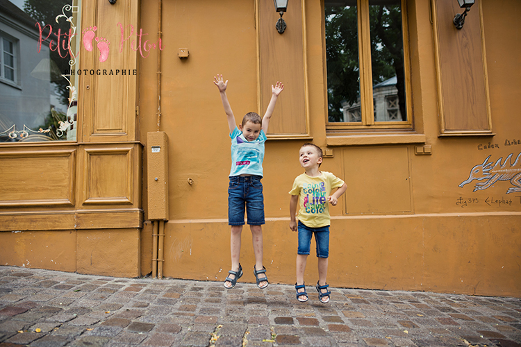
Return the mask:
<svg viewBox="0 0 521 347">
<path fill-rule="evenodd" d="M 370 0 L 374 121 L 406 121 L 400 0 Z"/>
</svg>

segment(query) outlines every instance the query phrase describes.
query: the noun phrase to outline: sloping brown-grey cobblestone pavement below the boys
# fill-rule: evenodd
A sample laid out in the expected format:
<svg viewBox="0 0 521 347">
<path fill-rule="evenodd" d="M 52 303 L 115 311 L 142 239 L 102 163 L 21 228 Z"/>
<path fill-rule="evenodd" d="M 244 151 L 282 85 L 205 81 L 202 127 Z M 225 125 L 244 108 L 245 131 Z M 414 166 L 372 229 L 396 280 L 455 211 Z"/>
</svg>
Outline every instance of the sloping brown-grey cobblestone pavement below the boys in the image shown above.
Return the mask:
<svg viewBox="0 0 521 347">
<path fill-rule="evenodd" d="M 521 300 L 85 276 L 0 266 L 6 346 L 521 346 Z"/>
</svg>

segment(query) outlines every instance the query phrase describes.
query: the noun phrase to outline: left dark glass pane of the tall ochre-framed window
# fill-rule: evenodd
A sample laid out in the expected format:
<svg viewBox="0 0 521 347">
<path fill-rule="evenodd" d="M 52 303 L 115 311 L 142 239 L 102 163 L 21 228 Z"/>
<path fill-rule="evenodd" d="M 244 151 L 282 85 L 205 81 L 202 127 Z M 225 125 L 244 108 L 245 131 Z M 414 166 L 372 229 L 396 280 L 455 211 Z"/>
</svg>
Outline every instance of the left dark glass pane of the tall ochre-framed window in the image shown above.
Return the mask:
<svg viewBox="0 0 521 347">
<path fill-rule="evenodd" d="M 328 118 L 361 121 L 356 0 L 325 1 Z"/>
</svg>

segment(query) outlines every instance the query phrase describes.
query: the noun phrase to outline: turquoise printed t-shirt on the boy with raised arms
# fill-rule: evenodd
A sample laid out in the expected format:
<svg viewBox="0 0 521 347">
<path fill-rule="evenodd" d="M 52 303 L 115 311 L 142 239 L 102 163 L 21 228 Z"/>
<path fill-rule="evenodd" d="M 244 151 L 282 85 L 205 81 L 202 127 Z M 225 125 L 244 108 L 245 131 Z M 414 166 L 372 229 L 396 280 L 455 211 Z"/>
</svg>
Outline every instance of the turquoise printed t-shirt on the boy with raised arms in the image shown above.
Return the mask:
<svg viewBox="0 0 521 347">
<path fill-rule="evenodd" d="M 239 128 L 235 127 L 231 137 L 230 176 L 242 174 L 263 176 L 264 142 L 266 134 L 261 129 L 255 141 L 245 139 Z"/>
</svg>

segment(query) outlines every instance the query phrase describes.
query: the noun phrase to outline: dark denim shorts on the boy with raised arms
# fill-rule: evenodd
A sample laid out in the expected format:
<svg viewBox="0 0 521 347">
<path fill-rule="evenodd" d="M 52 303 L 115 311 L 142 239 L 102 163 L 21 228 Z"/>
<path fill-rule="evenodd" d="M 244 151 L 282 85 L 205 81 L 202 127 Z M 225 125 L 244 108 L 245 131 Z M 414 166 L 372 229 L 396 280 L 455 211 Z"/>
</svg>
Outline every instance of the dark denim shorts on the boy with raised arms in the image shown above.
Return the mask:
<svg viewBox="0 0 521 347">
<path fill-rule="evenodd" d="M 264 221 L 262 176 L 231 176 L 228 187 L 228 224 L 243 226 L 245 211 L 250 226 L 261 226 Z"/>
</svg>

